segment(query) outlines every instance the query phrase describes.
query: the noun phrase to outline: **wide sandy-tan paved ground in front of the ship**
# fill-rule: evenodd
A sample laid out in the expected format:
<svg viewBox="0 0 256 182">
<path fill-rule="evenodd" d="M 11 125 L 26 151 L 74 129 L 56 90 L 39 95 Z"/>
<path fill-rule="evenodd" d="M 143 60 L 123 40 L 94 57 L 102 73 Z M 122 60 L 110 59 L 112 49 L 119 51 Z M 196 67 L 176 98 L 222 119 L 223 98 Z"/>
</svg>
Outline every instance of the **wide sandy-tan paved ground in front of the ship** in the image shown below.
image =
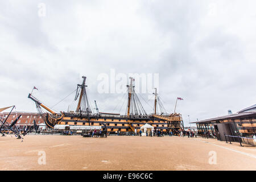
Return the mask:
<svg viewBox="0 0 256 182">
<path fill-rule="evenodd" d="M 215 154 L 217 164 L 209 164 Z M 21 142 L 9 135 L 0 137 L 0 170 L 256 170 L 256 147 L 168 136 L 27 135 Z"/>
</svg>

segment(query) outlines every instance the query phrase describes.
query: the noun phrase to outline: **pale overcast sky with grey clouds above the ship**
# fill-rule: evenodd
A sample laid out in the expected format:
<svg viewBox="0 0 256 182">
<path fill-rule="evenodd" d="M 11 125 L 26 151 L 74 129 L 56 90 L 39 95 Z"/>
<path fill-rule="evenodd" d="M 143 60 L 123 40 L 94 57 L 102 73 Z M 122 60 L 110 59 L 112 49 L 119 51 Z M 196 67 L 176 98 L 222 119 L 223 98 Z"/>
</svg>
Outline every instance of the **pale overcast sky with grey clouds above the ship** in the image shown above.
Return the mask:
<svg viewBox="0 0 256 182">
<path fill-rule="evenodd" d="M 42 4 L 46 14 L 42 14 Z M 256 2 L 1 1 L 0 107 L 36 111 L 34 91 L 48 106 L 72 93 L 86 76 L 91 104 L 125 113 L 123 94 L 98 93 L 98 76 L 159 73 L 168 112 L 185 123 L 256 104 Z M 136 86 L 136 85 L 135 85 Z M 152 89 L 151 92 L 154 92 Z M 154 101 L 141 94 L 147 113 Z M 75 93 L 53 107 L 75 108 Z M 150 106 L 151 105 L 151 106 Z M 94 105 L 92 106 L 94 107 Z"/>
</svg>

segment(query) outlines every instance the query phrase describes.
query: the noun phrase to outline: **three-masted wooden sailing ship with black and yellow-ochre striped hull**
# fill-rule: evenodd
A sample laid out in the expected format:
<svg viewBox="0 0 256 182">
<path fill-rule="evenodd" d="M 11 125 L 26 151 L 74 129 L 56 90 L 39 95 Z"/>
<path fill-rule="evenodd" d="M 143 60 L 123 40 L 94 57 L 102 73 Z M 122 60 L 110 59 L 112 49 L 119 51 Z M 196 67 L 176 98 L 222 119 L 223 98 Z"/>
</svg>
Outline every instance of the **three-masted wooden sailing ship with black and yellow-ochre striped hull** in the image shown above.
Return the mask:
<svg viewBox="0 0 256 182">
<path fill-rule="evenodd" d="M 147 114 L 143 108 L 141 101 L 139 101 L 137 93 L 134 89 L 134 78 L 130 77 L 130 84 L 127 85 L 127 107 L 125 115 L 114 113 L 102 113 L 98 111 L 93 113 L 88 95 L 86 93 L 86 77 L 82 76 L 82 84 L 77 84 L 75 100 L 78 99 L 78 104 L 75 111 L 60 111 L 55 113 L 40 102 L 37 98 L 28 94 L 28 98 L 36 104 L 36 109 L 44 117 L 44 122 L 49 128 L 54 128 L 55 125 L 69 125 L 69 126 L 107 126 L 107 130 L 112 133 L 136 133 L 140 130 L 141 126 L 146 123 L 154 126 L 154 129 L 168 133 L 178 133 L 184 130 L 183 119 L 181 114 L 172 113 L 168 114 L 164 109 L 162 102 L 155 89 L 154 113 Z M 157 109 L 158 107 L 158 109 Z M 46 109 L 49 113 L 44 113 L 42 108 Z M 160 110 L 161 113 L 157 113 Z"/>
</svg>

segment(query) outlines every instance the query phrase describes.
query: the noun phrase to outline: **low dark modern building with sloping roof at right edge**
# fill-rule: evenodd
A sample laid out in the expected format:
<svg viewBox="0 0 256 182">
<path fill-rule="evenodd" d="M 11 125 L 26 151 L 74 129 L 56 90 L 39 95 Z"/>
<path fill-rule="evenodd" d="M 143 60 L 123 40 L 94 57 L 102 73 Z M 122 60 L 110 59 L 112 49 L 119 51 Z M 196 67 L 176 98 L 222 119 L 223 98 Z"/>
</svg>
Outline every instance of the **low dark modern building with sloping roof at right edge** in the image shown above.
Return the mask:
<svg viewBox="0 0 256 182">
<path fill-rule="evenodd" d="M 218 140 L 231 140 L 255 146 L 253 135 L 256 134 L 256 104 L 235 114 L 224 115 L 221 117 L 205 119 L 196 123 L 199 134 L 205 131 L 216 136 Z M 232 137 L 225 137 L 229 135 Z"/>
</svg>

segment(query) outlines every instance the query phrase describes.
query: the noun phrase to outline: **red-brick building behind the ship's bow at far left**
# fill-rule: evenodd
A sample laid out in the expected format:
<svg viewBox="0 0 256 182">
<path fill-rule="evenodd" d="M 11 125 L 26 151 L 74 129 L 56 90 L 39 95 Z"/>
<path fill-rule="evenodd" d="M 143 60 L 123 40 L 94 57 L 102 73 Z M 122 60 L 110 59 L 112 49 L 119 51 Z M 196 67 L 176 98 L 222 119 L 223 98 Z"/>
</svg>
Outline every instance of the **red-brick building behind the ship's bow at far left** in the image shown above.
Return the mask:
<svg viewBox="0 0 256 182">
<path fill-rule="evenodd" d="M 2 118 L 1 121 L 3 121 L 9 113 L 3 112 L 0 113 L 0 117 Z M 13 121 L 15 121 L 16 117 L 21 115 L 16 125 L 19 125 L 20 129 L 23 129 L 24 126 L 34 126 L 34 120 L 36 122 L 36 125 L 39 125 L 40 123 L 44 123 L 43 118 L 38 113 L 31 113 L 31 112 L 12 112 L 9 115 L 9 118 L 7 119 L 7 122 L 10 124 Z"/>
</svg>

